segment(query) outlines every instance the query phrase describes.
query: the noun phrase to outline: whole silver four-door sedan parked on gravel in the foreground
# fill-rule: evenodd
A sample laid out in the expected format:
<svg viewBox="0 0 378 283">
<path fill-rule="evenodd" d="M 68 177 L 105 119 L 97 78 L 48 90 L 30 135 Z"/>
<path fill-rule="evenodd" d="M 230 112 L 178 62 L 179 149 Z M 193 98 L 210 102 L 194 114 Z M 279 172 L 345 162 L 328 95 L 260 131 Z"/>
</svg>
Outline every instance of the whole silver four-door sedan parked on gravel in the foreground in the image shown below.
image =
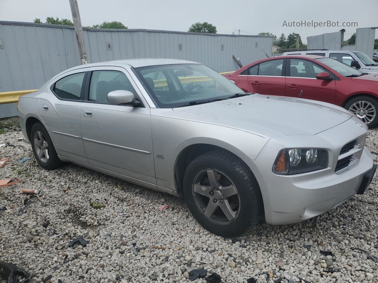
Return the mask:
<svg viewBox="0 0 378 283">
<path fill-rule="evenodd" d="M 209 231 L 234 237 L 363 194 L 375 172 L 367 128 L 328 103 L 245 93 L 174 59 L 77 66 L 19 100 L 45 169 L 72 162 L 184 197 Z"/>
</svg>

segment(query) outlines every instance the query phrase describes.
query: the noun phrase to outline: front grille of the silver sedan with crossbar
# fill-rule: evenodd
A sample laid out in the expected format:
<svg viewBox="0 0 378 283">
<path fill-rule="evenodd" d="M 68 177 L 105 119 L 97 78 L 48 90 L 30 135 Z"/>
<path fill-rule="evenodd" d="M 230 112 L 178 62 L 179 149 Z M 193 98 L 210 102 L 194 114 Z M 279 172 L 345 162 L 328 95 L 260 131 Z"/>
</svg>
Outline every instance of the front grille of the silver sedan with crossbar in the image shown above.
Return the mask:
<svg viewBox="0 0 378 283">
<path fill-rule="evenodd" d="M 336 163 L 335 173 L 348 168 L 355 164 L 361 158 L 366 141 L 366 134 L 346 143 L 340 151 L 338 161 Z"/>
</svg>

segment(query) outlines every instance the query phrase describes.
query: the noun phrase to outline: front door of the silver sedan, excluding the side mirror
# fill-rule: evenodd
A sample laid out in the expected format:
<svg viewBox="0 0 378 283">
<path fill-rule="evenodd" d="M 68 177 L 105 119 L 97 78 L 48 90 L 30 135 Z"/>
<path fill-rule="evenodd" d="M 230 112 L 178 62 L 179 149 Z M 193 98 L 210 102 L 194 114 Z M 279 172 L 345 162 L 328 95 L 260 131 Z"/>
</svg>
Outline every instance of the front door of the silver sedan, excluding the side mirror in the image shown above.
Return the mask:
<svg viewBox="0 0 378 283">
<path fill-rule="evenodd" d="M 118 89 L 133 92 L 141 105 L 110 104 L 107 94 Z M 150 108 L 126 69 L 90 68 L 80 116 L 90 165 L 156 185 Z"/>
</svg>

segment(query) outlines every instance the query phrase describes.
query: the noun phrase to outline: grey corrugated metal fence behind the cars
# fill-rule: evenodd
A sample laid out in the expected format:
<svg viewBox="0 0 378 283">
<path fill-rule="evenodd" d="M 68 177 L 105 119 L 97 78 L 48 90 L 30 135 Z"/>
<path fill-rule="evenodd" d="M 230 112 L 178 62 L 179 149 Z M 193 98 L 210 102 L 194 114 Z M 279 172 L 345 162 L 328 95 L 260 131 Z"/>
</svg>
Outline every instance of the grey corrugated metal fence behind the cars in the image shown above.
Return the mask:
<svg viewBox="0 0 378 283">
<path fill-rule="evenodd" d="M 273 37 L 144 29 L 83 28 L 90 63 L 127 58 L 177 58 L 215 71 L 238 69 L 270 56 Z M 73 26 L 0 21 L 0 92 L 39 88 L 80 65 Z"/>
</svg>

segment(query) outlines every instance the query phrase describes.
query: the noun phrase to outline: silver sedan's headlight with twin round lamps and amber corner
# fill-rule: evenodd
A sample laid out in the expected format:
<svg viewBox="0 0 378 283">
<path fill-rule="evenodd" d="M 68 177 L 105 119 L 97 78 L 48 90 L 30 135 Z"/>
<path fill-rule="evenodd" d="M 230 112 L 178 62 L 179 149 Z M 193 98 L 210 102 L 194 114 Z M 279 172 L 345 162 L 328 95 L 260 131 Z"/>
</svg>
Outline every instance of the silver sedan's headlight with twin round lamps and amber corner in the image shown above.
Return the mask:
<svg viewBox="0 0 378 283">
<path fill-rule="evenodd" d="M 328 152 L 318 148 L 285 148 L 277 155 L 273 172 L 291 175 L 328 167 Z"/>
</svg>

